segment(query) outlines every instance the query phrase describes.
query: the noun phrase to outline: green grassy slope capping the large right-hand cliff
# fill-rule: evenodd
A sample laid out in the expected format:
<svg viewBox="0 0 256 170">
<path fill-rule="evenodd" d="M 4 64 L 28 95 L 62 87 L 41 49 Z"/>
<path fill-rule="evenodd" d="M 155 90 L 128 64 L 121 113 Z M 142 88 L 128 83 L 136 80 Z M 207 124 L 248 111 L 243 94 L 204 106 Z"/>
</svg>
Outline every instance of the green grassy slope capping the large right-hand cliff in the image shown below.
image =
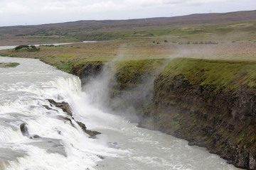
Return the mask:
<svg viewBox="0 0 256 170">
<path fill-rule="evenodd" d="M 235 89 L 242 84 L 256 87 L 256 62 L 201 60 L 177 58 L 162 71 L 164 80 L 183 75 L 191 85 L 201 84 L 213 89 Z"/>
</svg>

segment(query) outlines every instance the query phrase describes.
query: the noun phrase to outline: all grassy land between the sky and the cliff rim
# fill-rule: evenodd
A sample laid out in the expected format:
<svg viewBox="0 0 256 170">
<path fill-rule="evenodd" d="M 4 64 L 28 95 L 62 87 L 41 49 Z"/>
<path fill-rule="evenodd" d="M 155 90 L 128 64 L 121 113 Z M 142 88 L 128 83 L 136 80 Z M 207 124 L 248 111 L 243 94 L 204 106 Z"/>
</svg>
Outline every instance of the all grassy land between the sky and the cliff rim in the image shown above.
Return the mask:
<svg viewBox="0 0 256 170">
<path fill-rule="evenodd" d="M 38 58 L 65 72 L 88 61 L 175 57 L 255 61 L 256 11 L 0 28 L 0 45 L 49 42 L 81 43 L 40 46 L 35 52 L 0 50 L 0 55 Z"/>
</svg>

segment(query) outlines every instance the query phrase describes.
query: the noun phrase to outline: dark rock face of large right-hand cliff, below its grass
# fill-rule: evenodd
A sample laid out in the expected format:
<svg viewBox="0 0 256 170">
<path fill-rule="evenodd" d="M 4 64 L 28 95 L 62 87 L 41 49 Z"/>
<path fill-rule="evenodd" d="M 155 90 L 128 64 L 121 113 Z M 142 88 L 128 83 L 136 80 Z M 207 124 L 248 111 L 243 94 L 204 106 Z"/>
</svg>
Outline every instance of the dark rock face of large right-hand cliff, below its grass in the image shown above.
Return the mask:
<svg viewBox="0 0 256 170">
<path fill-rule="evenodd" d="M 183 75 L 156 78 L 152 103 L 139 123 L 206 147 L 244 169 L 256 168 L 256 95 L 246 85 L 215 90 Z M 157 88 L 156 88 L 157 87 Z"/>
</svg>

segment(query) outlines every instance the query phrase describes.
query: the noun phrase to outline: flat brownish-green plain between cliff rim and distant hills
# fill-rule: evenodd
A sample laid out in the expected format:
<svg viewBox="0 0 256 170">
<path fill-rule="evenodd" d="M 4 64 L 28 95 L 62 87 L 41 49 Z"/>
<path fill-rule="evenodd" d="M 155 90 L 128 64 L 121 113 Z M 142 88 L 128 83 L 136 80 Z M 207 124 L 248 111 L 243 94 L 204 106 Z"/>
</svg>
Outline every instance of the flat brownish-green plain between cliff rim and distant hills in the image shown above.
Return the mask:
<svg viewBox="0 0 256 170">
<path fill-rule="evenodd" d="M 167 40 L 167 42 L 164 42 Z M 153 42 L 155 41 L 155 42 Z M 159 44 L 157 44 L 159 42 Z M 69 72 L 73 64 L 87 61 L 172 59 L 193 57 L 212 60 L 256 61 L 255 42 L 174 44 L 165 39 L 108 40 L 58 46 L 40 46 L 38 52 L 1 50 L 0 55 L 38 58 Z"/>
</svg>

